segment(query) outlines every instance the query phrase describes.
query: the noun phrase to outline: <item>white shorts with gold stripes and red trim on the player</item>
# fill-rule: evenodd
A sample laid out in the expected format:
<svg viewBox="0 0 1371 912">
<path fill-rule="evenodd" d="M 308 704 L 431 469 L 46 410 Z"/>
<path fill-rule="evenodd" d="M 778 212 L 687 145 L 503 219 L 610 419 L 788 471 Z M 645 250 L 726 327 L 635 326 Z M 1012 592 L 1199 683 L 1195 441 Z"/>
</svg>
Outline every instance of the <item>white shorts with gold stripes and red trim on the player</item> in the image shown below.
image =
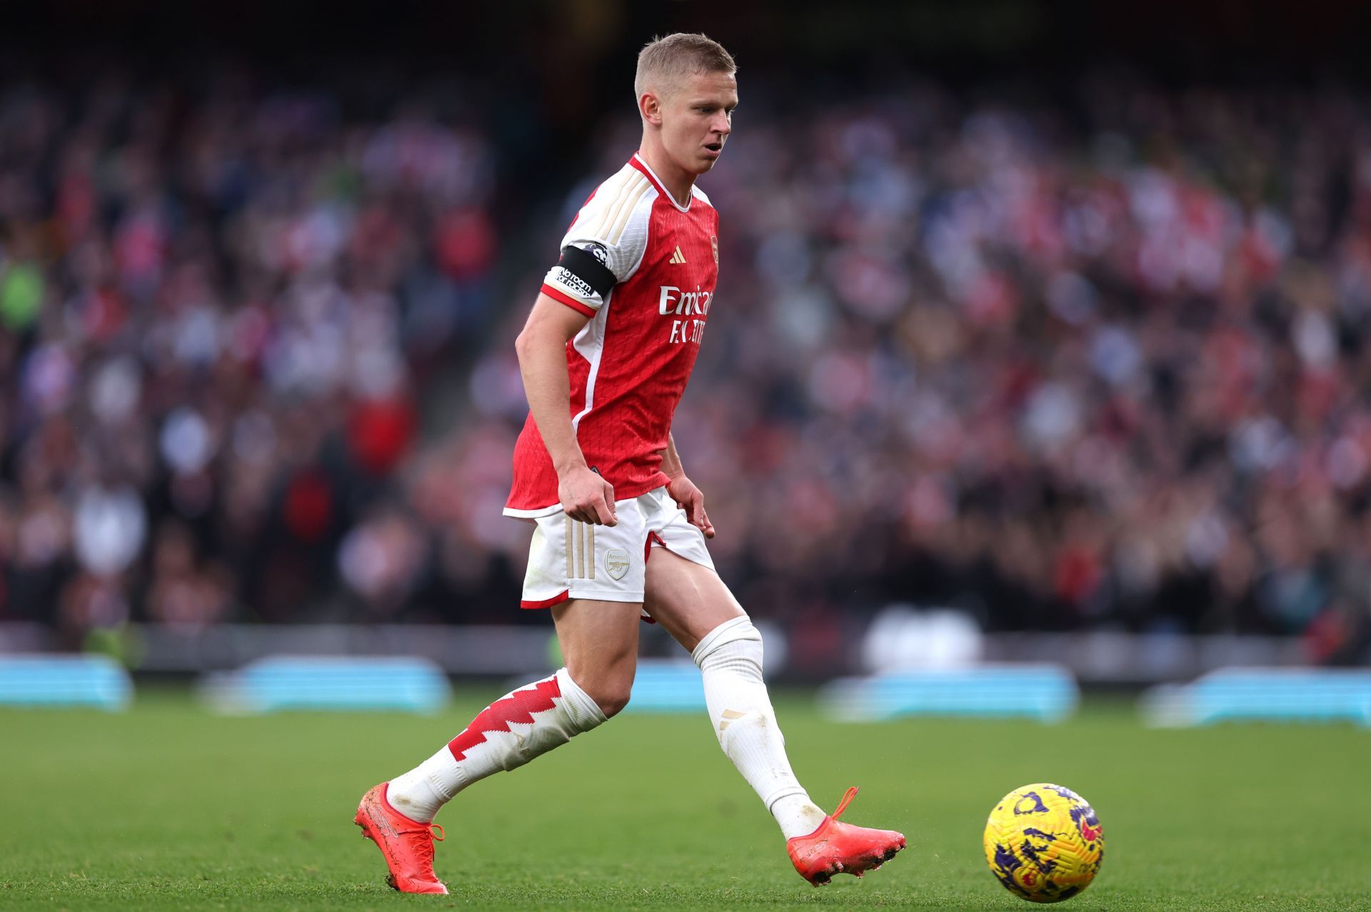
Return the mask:
<svg viewBox="0 0 1371 912">
<path fill-rule="evenodd" d="M 535 518 L 520 606 L 551 608 L 570 598 L 642 603 L 654 547 L 714 569 L 705 533 L 665 487 L 614 501 L 614 514 L 617 525 L 579 523 L 566 513 Z"/>
</svg>

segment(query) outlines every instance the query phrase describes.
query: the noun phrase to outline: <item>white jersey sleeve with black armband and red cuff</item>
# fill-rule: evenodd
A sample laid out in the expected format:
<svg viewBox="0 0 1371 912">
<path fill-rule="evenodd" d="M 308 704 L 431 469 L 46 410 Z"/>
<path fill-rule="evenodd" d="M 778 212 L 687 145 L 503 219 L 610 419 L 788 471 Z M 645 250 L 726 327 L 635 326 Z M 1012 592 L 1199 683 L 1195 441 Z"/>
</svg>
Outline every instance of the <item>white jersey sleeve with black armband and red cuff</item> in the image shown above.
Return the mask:
<svg viewBox="0 0 1371 912">
<path fill-rule="evenodd" d="M 631 167 L 600 184 L 562 237 L 543 293 L 594 317 L 643 262 L 654 196 L 651 182 Z"/>
</svg>

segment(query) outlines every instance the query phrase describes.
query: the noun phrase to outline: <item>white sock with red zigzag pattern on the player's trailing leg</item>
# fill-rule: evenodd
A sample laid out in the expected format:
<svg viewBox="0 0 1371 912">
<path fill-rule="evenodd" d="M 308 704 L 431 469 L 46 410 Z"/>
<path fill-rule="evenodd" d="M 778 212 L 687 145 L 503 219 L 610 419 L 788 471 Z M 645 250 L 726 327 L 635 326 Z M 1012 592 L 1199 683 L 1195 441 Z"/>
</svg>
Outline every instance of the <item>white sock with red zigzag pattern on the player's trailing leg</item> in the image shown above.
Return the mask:
<svg viewBox="0 0 1371 912">
<path fill-rule="evenodd" d="M 473 782 L 522 767 L 603 721 L 600 708 L 561 668 L 483 709 L 441 750 L 391 779 L 387 798 L 406 817 L 432 823 L 439 808 Z"/>
</svg>

